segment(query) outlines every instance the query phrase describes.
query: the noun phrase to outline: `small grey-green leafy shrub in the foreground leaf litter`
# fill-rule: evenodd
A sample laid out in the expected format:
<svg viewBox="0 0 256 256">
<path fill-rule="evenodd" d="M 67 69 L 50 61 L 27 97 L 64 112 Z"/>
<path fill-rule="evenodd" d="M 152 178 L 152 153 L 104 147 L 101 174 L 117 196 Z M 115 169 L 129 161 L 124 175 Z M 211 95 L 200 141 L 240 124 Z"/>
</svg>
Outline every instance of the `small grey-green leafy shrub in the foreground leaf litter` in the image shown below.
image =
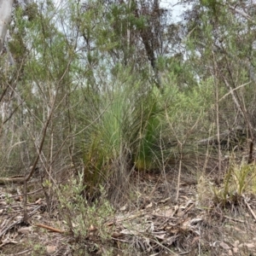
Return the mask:
<svg viewBox="0 0 256 256">
<path fill-rule="evenodd" d="M 65 219 L 67 230 L 76 241 L 83 241 L 89 236 L 108 240 L 110 232 L 105 224 L 107 218 L 113 215 L 113 207 L 107 201 L 104 189 L 100 188 L 101 200 L 88 202 L 84 197 L 83 174 L 74 179 L 71 184 L 59 189 L 61 214 Z"/>
</svg>

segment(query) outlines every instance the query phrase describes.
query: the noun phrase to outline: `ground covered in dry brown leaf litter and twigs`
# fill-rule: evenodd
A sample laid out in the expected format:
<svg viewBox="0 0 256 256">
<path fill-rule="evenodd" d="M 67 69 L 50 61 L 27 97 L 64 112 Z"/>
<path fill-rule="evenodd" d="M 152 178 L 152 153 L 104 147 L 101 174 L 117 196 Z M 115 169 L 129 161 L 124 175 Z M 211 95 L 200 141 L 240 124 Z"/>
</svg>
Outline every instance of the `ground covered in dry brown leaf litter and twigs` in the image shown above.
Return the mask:
<svg viewBox="0 0 256 256">
<path fill-rule="evenodd" d="M 174 172 L 137 177 L 132 207 L 106 220 L 107 241 L 91 224 L 81 243 L 65 232 L 57 210 L 49 216 L 44 197 L 32 197 L 24 223 L 22 195 L 0 187 L 0 255 L 256 255 L 254 195 L 221 207 L 200 179 L 183 175 L 177 201 L 176 188 Z"/>
</svg>

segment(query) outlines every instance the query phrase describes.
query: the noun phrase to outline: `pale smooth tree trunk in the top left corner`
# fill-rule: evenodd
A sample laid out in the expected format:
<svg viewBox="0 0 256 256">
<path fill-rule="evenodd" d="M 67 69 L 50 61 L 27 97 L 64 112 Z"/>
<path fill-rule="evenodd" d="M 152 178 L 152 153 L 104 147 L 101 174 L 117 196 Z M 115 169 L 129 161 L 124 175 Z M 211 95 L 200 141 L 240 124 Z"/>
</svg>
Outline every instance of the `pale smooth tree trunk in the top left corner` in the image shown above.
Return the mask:
<svg viewBox="0 0 256 256">
<path fill-rule="evenodd" d="M 9 26 L 14 0 L 0 0 L 0 52 Z"/>
</svg>

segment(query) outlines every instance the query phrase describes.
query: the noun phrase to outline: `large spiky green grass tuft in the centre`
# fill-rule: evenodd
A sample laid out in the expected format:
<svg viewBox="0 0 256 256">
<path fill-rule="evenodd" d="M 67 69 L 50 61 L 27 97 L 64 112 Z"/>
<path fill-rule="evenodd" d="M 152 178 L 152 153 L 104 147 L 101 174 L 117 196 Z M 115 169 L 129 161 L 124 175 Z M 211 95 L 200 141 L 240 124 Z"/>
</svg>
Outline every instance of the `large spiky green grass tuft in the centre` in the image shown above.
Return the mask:
<svg viewBox="0 0 256 256">
<path fill-rule="evenodd" d="M 130 73 L 124 71 L 118 76 L 111 90 L 102 91 L 95 99 L 90 98 L 92 103 L 84 115 L 93 123 L 84 132 L 85 183 L 96 184 L 108 179 L 112 172 L 119 172 L 111 166 L 115 160 L 122 159 L 120 152 L 129 152 L 122 161 L 130 168 L 134 164 L 137 169 L 154 166 L 160 131 L 157 107 L 160 102 L 150 90 L 142 90 L 143 82 L 136 81 Z"/>
</svg>

